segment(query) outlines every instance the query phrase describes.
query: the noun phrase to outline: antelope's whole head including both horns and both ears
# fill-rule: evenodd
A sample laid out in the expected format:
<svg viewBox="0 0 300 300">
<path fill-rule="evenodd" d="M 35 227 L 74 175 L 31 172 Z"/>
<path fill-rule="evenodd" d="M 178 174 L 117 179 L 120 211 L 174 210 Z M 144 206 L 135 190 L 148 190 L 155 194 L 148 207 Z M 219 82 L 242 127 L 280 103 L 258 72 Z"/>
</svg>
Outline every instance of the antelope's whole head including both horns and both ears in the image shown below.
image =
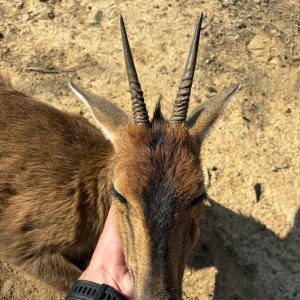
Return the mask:
<svg viewBox="0 0 300 300">
<path fill-rule="evenodd" d="M 91 107 L 114 146 L 112 198 L 135 299 L 180 299 L 193 227 L 205 195 L 201 142 L 238 85 L 204 102 L 187 119 L 201 15 L 172 117 L 166 120 L 158 103 L 150 121 L 122 17 L 120 22 L 133 121 L 105 99 L 73 84 L 71 88 Z"/>
</svg>

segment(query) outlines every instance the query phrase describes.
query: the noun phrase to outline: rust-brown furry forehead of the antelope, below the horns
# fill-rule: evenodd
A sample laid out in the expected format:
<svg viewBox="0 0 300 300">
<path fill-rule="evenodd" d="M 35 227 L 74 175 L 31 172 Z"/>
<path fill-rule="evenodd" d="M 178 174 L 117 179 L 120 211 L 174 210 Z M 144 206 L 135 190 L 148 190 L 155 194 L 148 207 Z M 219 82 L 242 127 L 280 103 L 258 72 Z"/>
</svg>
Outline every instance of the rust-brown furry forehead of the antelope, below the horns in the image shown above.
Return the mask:
<svg viewBox="0 0 300 300">
<path fill-rule="evenodd" d="M 123 189 L 139 198 L 160 190 L 184 201 L 203 181 L 186 126 L 175 127 L 162 116 L 154 117 L 151 128 L 129 125 L 118 144 L 115 175 Z"/>
</svg>

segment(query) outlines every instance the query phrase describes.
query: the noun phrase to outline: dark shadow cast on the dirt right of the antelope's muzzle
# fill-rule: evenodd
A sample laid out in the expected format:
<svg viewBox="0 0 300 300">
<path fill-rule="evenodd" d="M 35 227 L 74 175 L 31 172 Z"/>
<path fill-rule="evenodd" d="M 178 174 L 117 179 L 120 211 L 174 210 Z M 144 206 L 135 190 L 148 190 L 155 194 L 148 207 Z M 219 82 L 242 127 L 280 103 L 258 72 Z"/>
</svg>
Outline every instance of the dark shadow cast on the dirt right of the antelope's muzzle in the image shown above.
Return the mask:
<svg viewBox="0 0 300 300">
<path fill-rule="evenodd" d="M 300 299 L 300 209 L 281 239 L 251 217 L 209 204 L 188 266 L 217 268 L 213 299 Z"/>
</svg>

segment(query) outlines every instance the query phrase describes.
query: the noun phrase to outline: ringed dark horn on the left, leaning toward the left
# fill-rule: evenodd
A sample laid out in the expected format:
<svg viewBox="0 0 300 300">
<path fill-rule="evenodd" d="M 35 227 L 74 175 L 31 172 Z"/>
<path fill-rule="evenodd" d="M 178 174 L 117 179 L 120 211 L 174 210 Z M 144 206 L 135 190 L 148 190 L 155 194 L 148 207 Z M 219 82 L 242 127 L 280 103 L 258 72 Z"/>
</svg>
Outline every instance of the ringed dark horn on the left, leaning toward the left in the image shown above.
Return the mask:
<svg viewBox="0 0 300 300">
<path fill-rule="evenodd" d="M 120 16 L 120 27 L 123 41 L 123 50 L 126 63 L 127 76 L 132 100 L 132 110 L 134 123 L 142 126 L 150 126 L 146 104 L 144 102 L 143 91 L 135 70 L 128 37 L 125 29 L 123 17 Z"/>
</svg>

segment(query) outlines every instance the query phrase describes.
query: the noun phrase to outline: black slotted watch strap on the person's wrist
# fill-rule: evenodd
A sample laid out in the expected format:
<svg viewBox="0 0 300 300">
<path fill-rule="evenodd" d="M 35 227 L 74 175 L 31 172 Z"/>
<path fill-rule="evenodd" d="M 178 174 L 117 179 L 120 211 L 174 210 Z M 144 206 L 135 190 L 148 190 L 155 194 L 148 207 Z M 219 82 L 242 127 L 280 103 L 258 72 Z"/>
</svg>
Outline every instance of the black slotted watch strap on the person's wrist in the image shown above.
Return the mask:
<svg viewBox="0 0 300 300">
<path fill-rule="evenodd" d="M 69 290 L 66 300 L 126 300 L 119 292 L 106 284 L 78 280 Z"/>
</svg>

